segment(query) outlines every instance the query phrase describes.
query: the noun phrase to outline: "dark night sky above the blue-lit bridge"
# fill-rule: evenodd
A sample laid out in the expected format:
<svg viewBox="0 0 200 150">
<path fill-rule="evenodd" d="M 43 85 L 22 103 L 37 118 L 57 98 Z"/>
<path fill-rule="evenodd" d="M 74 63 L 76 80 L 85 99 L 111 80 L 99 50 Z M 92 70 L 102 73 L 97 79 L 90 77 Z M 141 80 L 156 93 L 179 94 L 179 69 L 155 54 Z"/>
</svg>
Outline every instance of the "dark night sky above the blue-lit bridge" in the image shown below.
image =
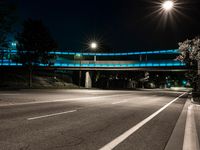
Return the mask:
<svg viewBox="0 0 200 150">
<path fill-rule="evenodd" d="M 80 50 L 96 39 L 116 51 L 177 48 L 200 34 L 200 0 L 177 0 L 165 20 L 160 0 L 20 0 L 21 20 L 42 19 L 60 48 Z"/>
</svg>

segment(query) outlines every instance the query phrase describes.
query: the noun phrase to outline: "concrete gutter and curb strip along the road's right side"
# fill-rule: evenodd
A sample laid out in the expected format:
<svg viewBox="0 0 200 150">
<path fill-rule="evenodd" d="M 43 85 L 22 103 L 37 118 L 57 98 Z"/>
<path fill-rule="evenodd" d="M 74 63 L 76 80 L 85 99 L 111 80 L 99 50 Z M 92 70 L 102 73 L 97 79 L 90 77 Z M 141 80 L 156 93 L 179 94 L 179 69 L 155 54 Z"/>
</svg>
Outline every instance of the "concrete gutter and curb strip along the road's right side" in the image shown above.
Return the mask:
<svg viewBox="0 0 200 150">
<path fill-rule="evenodd" d="M 165 150 L 200 150 L 200 105 L 188 99 Z"/>
</svg>

